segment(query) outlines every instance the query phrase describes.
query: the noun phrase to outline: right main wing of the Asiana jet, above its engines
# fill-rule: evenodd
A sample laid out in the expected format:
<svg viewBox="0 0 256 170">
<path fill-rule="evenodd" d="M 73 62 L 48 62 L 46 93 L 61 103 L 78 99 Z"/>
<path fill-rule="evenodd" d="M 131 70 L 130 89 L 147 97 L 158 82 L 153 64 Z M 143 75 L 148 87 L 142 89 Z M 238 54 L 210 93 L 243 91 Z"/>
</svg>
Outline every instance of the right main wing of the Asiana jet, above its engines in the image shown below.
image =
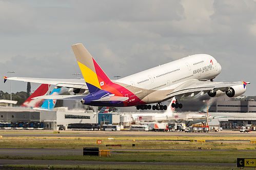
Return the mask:
<svg viewBox="0 0 256 170">
<path fill-rule="evenodd" d="M 235 86 L 235 85 L 242 85 L 243 82 L 210 82 L 210 81 L 200 81 L 196 79 L 188 80 L 175 88 L 172 87 L 172 90 L 170 93 L 166 95 L 165 99 L 173 98 L 174 96 L 194 96 L 200 92 L 203 92 L 205 94 L 209 90 L 222 90 L 227 91 L 229 87 Z"/>
</svg>

